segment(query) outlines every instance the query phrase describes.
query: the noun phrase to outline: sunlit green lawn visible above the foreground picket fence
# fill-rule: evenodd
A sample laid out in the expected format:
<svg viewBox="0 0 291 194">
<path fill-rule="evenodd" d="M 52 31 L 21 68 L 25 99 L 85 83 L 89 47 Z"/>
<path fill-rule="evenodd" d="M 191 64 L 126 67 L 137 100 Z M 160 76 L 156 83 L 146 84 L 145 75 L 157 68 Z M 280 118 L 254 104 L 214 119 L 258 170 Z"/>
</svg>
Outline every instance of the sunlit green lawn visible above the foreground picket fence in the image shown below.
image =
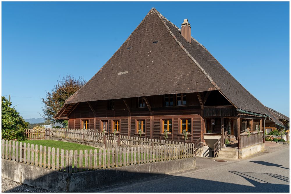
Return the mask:
<svg viewBox="0 0 291 194">
<path fill-rule="evenodd" d="M 59 148 L 60 149 L 60 152 L 61 152 L 61 149 L 64 149 L 64 150 L 83 150 L 83 153 L 84 153 L 84 150 L 93 150 L 94 152 L 94 149 L 97 149 L 98 148 L 94 148 L 94 147 L 91 147 L 91 146 L 86 146 L 86 145 L 82 145 L 82 144 L 75 144 L 75 143 L 70 143 L 70 142 L 62 142 L 62 141 L 54 141 L 54 140 L 25 140 L 25 141 L 18 141 L 19 143 L 22 142 L 22 145 L 23 143 L 26 143 L 26 145 L 29 143 L 30 145 L 31 144 L 34 144 L 34 145 L 38 145 L 38 149 L 39 149 L 39 146 L 42 145 L 42 146 L 47 146 L 48 147 L 51 147 L 51 150 L 52 148 Z"/>
</svg>

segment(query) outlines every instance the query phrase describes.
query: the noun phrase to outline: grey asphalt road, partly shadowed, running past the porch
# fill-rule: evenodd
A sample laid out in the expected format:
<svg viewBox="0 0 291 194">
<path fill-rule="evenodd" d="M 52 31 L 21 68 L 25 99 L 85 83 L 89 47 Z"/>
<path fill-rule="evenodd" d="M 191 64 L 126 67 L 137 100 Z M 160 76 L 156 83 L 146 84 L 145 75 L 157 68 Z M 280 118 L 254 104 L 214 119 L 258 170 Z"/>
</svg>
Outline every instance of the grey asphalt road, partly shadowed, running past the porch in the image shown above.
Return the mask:
<svg viewBox="0 0 291 194">
<path fill-rule="evenodd" d="M 272 148 L 270 148 L 271 150 Z M 244 160 L 197 158 L 197 167 L 91 192 L 288 192 L 289 146 Z"/>
</svg>

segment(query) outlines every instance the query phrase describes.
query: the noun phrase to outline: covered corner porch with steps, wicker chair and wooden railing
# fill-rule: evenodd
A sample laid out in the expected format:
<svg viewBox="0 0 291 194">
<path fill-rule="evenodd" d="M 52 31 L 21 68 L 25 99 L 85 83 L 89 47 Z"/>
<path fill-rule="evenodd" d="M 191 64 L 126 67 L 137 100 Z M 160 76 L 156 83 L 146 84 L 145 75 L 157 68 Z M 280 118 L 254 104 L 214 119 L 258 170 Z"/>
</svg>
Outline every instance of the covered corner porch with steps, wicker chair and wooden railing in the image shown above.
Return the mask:
<svg viewBox="0 0 291 194">
<path fill-rule="evenodd" d="M 230 107 L 209 107 L 204 112 L 207 133 L 203 136 L 210 148 L 210 157 L 238 158 L 239 149 L 262 144 L 263 118 L 263 115 L 233 113 Z"/>
</svg>

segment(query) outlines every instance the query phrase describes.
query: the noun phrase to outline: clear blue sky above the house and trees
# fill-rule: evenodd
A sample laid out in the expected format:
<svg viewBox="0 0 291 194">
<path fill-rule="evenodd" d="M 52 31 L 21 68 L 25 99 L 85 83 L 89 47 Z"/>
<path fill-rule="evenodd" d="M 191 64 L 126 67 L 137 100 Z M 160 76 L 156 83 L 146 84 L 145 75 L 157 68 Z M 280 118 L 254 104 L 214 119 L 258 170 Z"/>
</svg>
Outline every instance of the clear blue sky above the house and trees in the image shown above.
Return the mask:
<svg viewBox="0 0 291 194">
<path fill-rule="evenodd" d="M 289 116 L 289 2 L 2 2 L 2 95 L 39 118 L 59 77 L 88 81 L 152 7 L 179 27 L 188 18 L 247 90 Z"/>
</svg>

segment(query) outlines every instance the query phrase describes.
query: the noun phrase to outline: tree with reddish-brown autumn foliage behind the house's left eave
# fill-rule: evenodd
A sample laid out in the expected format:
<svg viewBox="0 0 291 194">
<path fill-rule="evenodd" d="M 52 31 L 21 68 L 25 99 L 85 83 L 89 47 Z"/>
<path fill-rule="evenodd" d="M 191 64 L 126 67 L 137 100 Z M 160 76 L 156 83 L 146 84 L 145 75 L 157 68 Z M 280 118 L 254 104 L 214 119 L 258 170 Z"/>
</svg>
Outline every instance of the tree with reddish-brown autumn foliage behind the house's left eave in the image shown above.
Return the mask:
<svg viewBox="0 0 291 194">
<path fill-rule="evenodd" d="M 42 111 L 44 112 L 42 117 L 46 120 L 50 120 L 52 124 L 57 122 L 63 126 L 68 126 L 67 120 L 55 120 L 53 117 L 62 108 L 65 100 L 85 84 L 86 81 L 83 77 L 75 79 L 71 75 L 67 75 L 66 77 L 63 77 L 63 79 L 60 78 L 51 92 L 46 91 L 47 95 L 45 99 L 41 98 L 42 103 L 45 105 L 42 108 Z"/>
</svg>

